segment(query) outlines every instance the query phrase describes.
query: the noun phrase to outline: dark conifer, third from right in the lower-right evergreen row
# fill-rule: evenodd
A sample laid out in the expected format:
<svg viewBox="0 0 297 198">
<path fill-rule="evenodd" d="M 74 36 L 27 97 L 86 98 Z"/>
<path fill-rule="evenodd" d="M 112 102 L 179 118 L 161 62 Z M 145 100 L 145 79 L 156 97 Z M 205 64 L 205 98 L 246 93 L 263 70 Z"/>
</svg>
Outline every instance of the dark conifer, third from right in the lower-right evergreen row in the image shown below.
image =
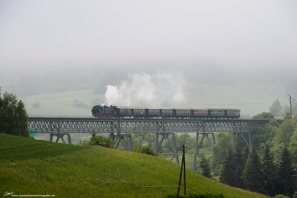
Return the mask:
<svg viewBox="0 0 297 198">
<path fill-rule="evenodd" d="M 247 187 L 250 191 L 261 193 L 263 189 L 262 163 L 255 146 L 252 148 L 250 158 L 252 163 L 248 172 L 249 178 Z"/>
</svg>

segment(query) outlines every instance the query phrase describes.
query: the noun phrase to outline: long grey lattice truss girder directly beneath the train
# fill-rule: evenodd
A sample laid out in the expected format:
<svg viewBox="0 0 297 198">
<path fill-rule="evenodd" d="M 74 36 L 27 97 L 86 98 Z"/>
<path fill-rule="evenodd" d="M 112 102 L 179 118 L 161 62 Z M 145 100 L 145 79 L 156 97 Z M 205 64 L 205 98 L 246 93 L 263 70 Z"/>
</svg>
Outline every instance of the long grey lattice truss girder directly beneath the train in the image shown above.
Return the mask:
<svg viewBox="0 0 297 198">
<path fill-rule="evenodd" d="M 49 132 L 250 132 L 268 121 L 224 119 L 28 118 L 29 129 Z"/>
</svg>

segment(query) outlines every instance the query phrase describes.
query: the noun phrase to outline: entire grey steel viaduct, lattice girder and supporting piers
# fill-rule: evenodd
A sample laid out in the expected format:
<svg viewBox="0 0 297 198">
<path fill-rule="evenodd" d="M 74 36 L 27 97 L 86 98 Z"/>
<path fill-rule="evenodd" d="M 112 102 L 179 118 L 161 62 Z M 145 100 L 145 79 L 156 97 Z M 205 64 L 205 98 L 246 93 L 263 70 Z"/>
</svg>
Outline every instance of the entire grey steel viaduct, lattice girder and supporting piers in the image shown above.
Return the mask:
<svg viewBox="0 0 297 198">
<path fill-rule="evenodd" d="M 114 141 L 113 146 L 118 147 L 121 142 L 127 151 L 132 151 L 133 147 L 131 134 L 129 133 L 152 132 L 156 133 L 154 152 L 158 154 L 164 139 L 165 141 L 168 140 L 173 151 L 171 160 L 175 158 L 177 164 L 179 164 L 179 159 L 174 134 L 176 132 L 196 132 L 192 170 L 197 171 L 200 169 L 199 165 L 196 165 L 196 159 L 202 154 L 199 153 L 199 148 L 204 138 L 208 140 L 210 145 L 213 145 L 215 144 L 215 132 L 233 132 L 232 143 L 234 144 L 237 139 L 236 145 L 242 137 L 251 151 L 252 141 L 250 132 L 255 127 L 268 123 L 268 121 L 252 119 L 93 118 L 91 116 L 32 115 L 28 118 L 28 128 L 38 131 L 38 133 L 50 134 L 50 141 L 53 141 L 53 136 L 56 136 L 56 142 L 61 139 L 63 143 L 66 143 L 63 137 L 67 135 L 69 144 L 71 144 L 70 133 L 109 133 L 109 137 Z M 198 136 L 201 134 L 202 138 L 198 142 Z M 238 135 L 236 136 L 236 134 Z M 244 136 L 245 134 L 246 136 Z M 169 139 L 170 135 L 172 140 Z M 208 135 L 211 135 L 211 139 L 209 139 Z"/>
</svg>

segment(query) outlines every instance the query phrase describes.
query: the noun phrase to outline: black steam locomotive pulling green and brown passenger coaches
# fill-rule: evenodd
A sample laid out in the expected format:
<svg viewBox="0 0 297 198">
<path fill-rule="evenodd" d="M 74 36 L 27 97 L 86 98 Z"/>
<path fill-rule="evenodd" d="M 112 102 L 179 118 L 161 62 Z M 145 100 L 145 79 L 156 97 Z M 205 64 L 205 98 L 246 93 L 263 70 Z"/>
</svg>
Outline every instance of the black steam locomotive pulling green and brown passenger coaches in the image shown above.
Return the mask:
<svg viewBox="0 0 297 198">
<path fill-rule="evenodd" d="M 129 107 L 96 105 L 92 108 L 96 118 L 213 118 L 238 119 L 240 109 L 175 108 L 175 107 Z"/>
</svg>

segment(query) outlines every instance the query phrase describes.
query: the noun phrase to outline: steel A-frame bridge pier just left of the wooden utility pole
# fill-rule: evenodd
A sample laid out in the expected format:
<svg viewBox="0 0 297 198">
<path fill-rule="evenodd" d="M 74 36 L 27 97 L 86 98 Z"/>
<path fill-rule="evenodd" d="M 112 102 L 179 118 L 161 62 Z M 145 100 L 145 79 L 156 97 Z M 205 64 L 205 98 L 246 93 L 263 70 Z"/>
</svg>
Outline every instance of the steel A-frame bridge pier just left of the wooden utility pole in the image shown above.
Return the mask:
<svg viewBox="0 0 297 198">
<path fill-rule="evenodd" d="M 162 135 L 162 140 L 158 143 L 159 135 Z M 172 135 L 172 142 L 169 140 L 168 135 Z M 176 164 L 179 165 L 179 159 L 178 159 L 178 153 L 177 153 L 177 149 L 176 149 L 176 141 L 175 141 L 174 132 L 172 132 L 172 133 L 156 133 L 154 153 L 158 154 L 164 138 L 165 138 L 165 140 L 168 140 L 168 142 L 172 148 L 172 152 L 173 152 L 173 154 L 164 154 L 164 155 L 173 155 L 173 157 L 170 159 L 170 161 L 172 161 L 175 158 Z M 161 154 L 160 156 L 162 156 L 162 155 L 163 154 Z"/>
</svg>

